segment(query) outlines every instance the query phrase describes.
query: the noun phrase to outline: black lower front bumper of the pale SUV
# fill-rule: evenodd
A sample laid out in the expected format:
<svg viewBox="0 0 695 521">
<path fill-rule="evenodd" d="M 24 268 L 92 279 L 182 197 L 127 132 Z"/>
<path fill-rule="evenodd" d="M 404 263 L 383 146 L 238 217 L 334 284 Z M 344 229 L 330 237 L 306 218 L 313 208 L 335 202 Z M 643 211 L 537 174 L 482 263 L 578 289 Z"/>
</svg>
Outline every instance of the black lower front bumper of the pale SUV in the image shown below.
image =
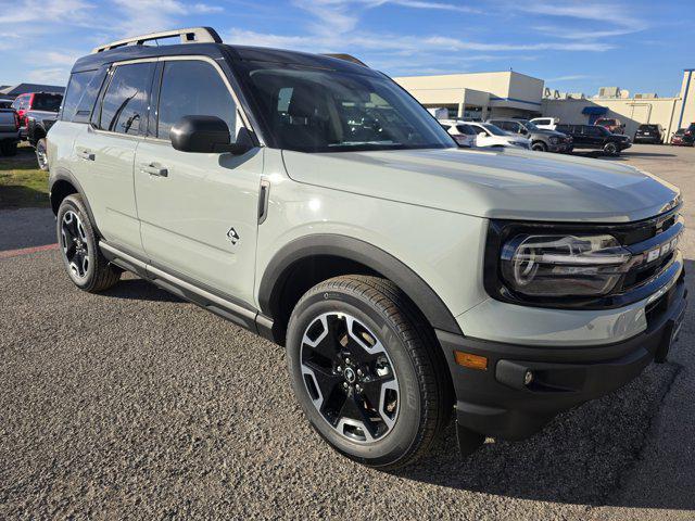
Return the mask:
<svg viewBox="0 0 695 521">
<path fill-rule="evenodd" d="M 438 331 L 456 391 L 458 428 L 521 440 L 541 430 L 557 414 L 623 386 L 653 360 L 666 360 L 685 306 L 681 274 L 646 312 L 647 329 L 619 343 L 531 347 Z M 488 369 L 457 365 L 455 351 L 486 357 Z M 525 374 L 529 370 L 533 380 L 527 385 Z"/>
</svg>

